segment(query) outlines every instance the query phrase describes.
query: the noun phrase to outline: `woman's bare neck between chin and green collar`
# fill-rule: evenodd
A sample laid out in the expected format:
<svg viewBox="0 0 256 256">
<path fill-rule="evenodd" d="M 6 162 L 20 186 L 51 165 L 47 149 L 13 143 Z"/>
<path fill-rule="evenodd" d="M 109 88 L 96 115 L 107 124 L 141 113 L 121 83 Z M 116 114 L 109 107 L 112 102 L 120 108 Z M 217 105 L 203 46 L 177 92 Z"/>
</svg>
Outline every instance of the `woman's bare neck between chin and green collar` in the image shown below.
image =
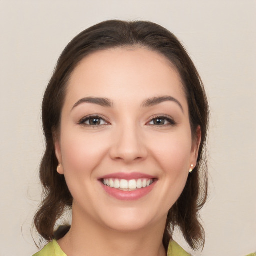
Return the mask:
<svg viewBox="0 0 256 256">
<path fill-rule="evenodd" d="M 71 228 L 58 244 L 68 256 L 164 256 L 165 221 L 140 230 L 120 231 L 73 214 Z"/>
</svg>

